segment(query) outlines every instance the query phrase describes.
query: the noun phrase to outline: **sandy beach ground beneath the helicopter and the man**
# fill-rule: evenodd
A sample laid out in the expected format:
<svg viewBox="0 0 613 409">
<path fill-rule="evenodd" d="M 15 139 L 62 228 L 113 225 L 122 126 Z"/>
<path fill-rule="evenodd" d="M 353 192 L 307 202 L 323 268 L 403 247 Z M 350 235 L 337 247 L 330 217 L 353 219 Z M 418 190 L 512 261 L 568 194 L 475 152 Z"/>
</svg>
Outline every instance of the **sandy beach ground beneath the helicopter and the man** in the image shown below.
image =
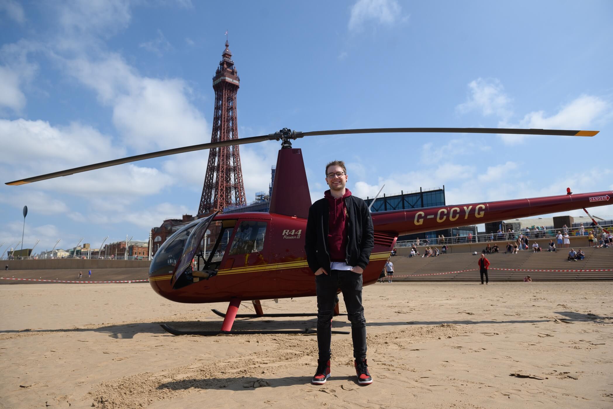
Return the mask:
<svg viewBox="0 0 613 409">
<path fill-rule="evenodd" d="M 175 337 L 159 326 L 216 330 L 210 308 L 226 305 L 177 304 L 146 283 L 4 285 L 0 407 L 611 408 L 612 295 L 603 282 L 365 287 L 375 382 L 360 387 L 350 335 L 333 335 L 332 378 L 314 386 L 314 335 Z M 314 298 L 262 304 L 316 309 Z M 334 326 L 350 329 L 345 317 Z M 314 318 L 233 329 L 305 327 Z"/>
</svg>

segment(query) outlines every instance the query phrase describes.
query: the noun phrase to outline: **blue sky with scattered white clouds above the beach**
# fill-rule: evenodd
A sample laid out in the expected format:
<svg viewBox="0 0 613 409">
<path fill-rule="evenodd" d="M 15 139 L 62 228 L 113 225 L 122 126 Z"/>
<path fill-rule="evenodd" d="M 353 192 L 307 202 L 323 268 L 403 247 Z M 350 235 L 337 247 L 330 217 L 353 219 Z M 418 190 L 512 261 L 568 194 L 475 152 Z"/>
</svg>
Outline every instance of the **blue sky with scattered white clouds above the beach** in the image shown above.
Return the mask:
<svg viewBox="0 0 613 409">
<path fill-rule="evenodd" d="M 447 204 L 613 189 L 612 17 L 610 1 L 0 0 L 0 243 L 21 239 L 23 205 L 24 247 L 41 240 L 36 251 L 57 239 L 147 240 L 164 218 L 195 214 L 208 151 L 4 182 L 210 141 L 226 30 L 240 137 L 284 127 L 601 131 L 302 139 L 294 147 L 313 198 L 332 159 L 347 162 L 360 197 L 383 184 L 387 194 L 444 185 Z M 240 148 L 249 201 L 268 188 L 278 148 Z"/>
</svg>

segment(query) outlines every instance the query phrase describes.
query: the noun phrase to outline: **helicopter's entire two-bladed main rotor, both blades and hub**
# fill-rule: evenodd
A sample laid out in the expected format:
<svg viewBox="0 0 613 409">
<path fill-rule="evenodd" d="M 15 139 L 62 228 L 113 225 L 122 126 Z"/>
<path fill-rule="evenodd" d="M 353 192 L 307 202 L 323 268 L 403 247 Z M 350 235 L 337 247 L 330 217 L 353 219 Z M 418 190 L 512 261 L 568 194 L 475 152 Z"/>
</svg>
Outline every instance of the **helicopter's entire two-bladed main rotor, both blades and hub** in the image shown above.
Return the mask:
<svg viewBox="0 0 613 409">
<path fill-rule="evenodd" d="M 289 131 L 284 128 L 283 131 Z M 262 136 L 252 136 L 248 138 L 230 139 L 219 142 L 200 143 L 200 145 L 191 145 L 188 147 L 167 149 L 151 153 L 143 153 L 142 155 L 128 156 L 127 158 L 114 159 L 112 161 L 100 162 L 92 165 L 74 167 L 72 169 L 60 170 L 50 174 L 15 180 L 7 182 L 6 185 L 17 186 L 25 185 L 26 183 L 38 182 L 60 176 L 72 175 L 88 170 L 101 169 L 103 167 L 115 166 L 129 162 L 142 161 L 143 159 L 159 158 L 160 156 L 174 155 L 175 153 L 185 153 L 197 150 L 210 148 L 227 147 L 231 145 L 244 145 L 245 143 L 264 142 L 265 140 L 280 140 L 283 137 L 288 139 L 296 139 L 305 136 L 318 135 L 343 135 L 343 134 L 374 134 L 374 133 L 470 133 L 470 134 L 520 134 L 520 135 L 556 135 L 556 136 L 595 136 L 599 131 L 568 131 L 561 129 L 519 129 L 519 128 L 364 128 L 364 129 L 335 129 L 331 131 L 311 131 L 311 132 L 291 132 L 284 134 L 283 131 L 275 134 Z"/>
</svg>

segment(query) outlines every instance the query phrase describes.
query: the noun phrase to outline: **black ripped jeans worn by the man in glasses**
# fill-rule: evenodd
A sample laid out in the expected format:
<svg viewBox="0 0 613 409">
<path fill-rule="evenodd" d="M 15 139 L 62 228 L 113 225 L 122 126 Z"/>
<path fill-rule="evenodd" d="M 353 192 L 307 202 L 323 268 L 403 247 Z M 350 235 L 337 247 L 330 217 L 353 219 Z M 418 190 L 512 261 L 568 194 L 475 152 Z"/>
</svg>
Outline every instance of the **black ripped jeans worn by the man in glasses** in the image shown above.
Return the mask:
<svg viewBox="0 0 613 409">
<path fill-rule="evenodd" d="M 356 360 L 366 357 L 366 319 L 362 307 L 362 274 L 348 270 L 332 270 L 329 275 L 315 276 L 317 290 L 317 346 L 319 359 L 329 361 L 332 350 L 332 316 L 337 303 L 337 289 L 345 299 L 347 315 L 351 321 L 353 356 Z"/>
</svg>

